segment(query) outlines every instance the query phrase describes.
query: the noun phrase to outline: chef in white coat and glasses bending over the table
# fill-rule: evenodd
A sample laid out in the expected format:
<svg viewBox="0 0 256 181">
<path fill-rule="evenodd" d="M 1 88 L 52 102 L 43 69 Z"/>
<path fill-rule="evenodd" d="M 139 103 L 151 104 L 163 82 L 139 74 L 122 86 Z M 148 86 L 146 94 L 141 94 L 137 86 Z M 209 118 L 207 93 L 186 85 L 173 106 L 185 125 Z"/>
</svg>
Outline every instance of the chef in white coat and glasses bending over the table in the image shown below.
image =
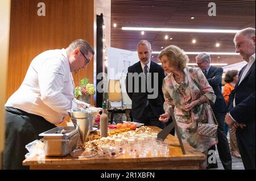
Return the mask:
<svg viewBox="0 0 256 181">
<path fill-rule="evenodd" d="M 25 146 L 60 124 L 67 110 L 90 106 L 74 98 L 72 73 L 86 68 L 93 55 L 90 44 L 77 39 L 68 48 L 47 50 L 31 61 L 22 85 L 5 104 L 3 169 L 28 169 L 22 166 Z"/>
</svg>

